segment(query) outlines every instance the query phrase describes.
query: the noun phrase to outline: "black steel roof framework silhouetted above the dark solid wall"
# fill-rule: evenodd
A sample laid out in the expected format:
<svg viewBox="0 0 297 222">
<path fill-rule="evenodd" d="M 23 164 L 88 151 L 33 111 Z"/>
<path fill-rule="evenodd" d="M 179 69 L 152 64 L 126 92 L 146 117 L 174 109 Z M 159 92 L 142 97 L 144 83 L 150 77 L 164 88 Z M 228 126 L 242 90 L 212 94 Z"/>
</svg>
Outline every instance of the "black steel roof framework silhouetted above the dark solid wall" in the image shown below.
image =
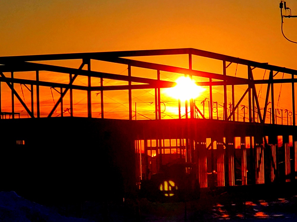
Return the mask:
<svg viewBox="0 0 297 222">
<path fill-rule="evenodd" d="M 139 56 L 157 56 L 157 55 L 181 55 L 188 54 L 189 55 L 189 68 L 180 68 L 169 65 L 160 65 L 150 62 L 141 62 L 133 59 L 127 59 L 122 57 L 139 57 Z M 222 69 L 223 74 L 217 73 L 209 73 L 203 72 L 199 70 L 192 69 L 192 55 L 207 57 L 211 59 L 217 59 L 222 61 Z M 68 68 L 56 65 L 45 65 L 40 63 L 35 63 L 36 61 L 47 61 L 47 60 L 66 60 L 66 59 L 81 59 L 82 63 L 78 69 Z M 124 64 L 128 66 L 128 76 L 126 75 L 118 75 L 111 73 L 103 73 L 91 70 L 91 59 L 105 61 L 105 62 L 113 62 L 118 64 Z M 226 65 L 228 62 L 228 65 Z M 241 64 L 247 66 L 248 70 L 248 78 L 240 78 L 226 75 L 226 69 L 229 67 L 231 63 Z M 213 52 L 207 52 L 198 49 L 160 49 L 160 50 L 140 50 L 140 51 L 120 51 L 120 52 L 94 52 L 94 53 L 72 53 L 72 54 L 48 54 L 48 55 L 29 55 L 29 56 L 9 56 L 9 57 L 0 57 L 0 82 L 5 82 L 11 89 L 11 100 L 12 100 L 12 114 L 15 113 L 14 108 L 14 98 L 16 97 L 25 110 L 28 112 L 31 118 L 40 117 L 40 92 L 39 86 L 48 86 L 52 88 L 60 88 L 61 96 L 56 102 L 56 104 L 51 109 L 48 117 L 51 117 L 54 111 L 57 109 L 59 104 L 63 103 L 63 97 L 69 91 L 70 92 L 70 115 L 73 116 L 73 96 L 72 90 L 84 90 L 87 91 L 87 113 L 88 117 L 92 117 L 91 110 L 91 91 L 100 91 L 101 92 L 101 113 L 102 118 L 104 118 L 104 101 L 103 101 L 103 92 L 110 90 L 128 90 L 129 91 L 129 119 L 132 120 L 132 90 L 133 89 L 155 89 L 155 118 L 161 119 L 160 114 L 160 88 L 172 87 L 176 83 L 170 81 L 162 81 L 160 80 L 160 71 L 167 71 L 172 73 L 180 73 L 189 76 L 199 76 L 209 78 L 209 81 L 198 82 L 197 84 L 200 86 L 209 86 L 210 93 L 210 110 L 212 110 L 213 101 L 212 101 L 212 86 L 223 86 L 224 87 L 224 120 L 232 120 L 235 121 L 235 110 L 241 103 L 242 99 L 246 94 L 248 94 L 249 98 L 249 122 L 255 122 L 255 118 L 260 120 L 260 123 L 265 123 L 265 118 L 267 115 L 267 105 L 269 100 L 269 94 L 271 94 L 271 116 L 272 116 L 272 124 L 275 124 L 275 105 L 274 105 L 274 83 L 291 83 L 292 84 L 292 95 L 290 95 L 292 99 L 292 110 L 293 110 L 293 126 L 296 125 L 295 118 L 295 87 L 294 83 L 297 82 L 297 79 L 294 78 L 294 75 L 297 75 L 297 70 L 279 67 L 274 65 L 268 65 L 268 63 L 260 63 L 254 62 L 246 59 L 240 59 L 236 57 L 226 56 L 223 54 L 217 54 Z M 87 65 L 87 70 L 83 70 L 83 67 Z M 141 78 L 134 77 L 131 75 L 131 67 L 140 67 L 146 69 L 152 69 L 157 71 L 158 79 L 152 78 Z M 253 77 L 253 69 L 261 68 L 265 70 L 269 70 L 269 79 L 267 80 L 254 80 Z M 14 78 L 14 72 L 25 72 L 25 71 L 35 71 L 36 79 L 35 80 L 26 80 L 20 78 Z M 48 81 L 40 81 L 39 80 L 39 71 L 50 71 L 50 72 L 58 72 L 58 73 L 68 73 L 69 74 L 69 83 L 54 83 Z M 5 72 L 10 72 L 11 77 L 6 77 L 4 75 Z M 274 76 L 278 73 L 287 73 L 291 74 L 292 78 L 290 79 L 274 79 Z M 74 85 L 73 82 L 79 76 L 87 76 L 88 77 L 88 86 L 79 86 Z M 97 77 L 101 79 L 101 86 L 91 86 L 91 77 Z M 120 80 L 127 81 L 127 85 L 119 85 L 119 86 L 103 86 L 103 79 L 112 79 L 112 80 Z M 132 85 L 133 83 L 142 83 L 137 85 Z M 31 88 L 27 87 L 31 91 L 31 110 L 22 100 L 20 95 L 14 89 L 14 83 L 19 83 L 23 85 L 31 85 Z M 266 91 L 266 99 L 263 113 L 261 113 L 257 93 L 256 93 L 256 85 L 257 84 L 267 84 Z M 227 86 L 232 86 L 232 112 L 228 116 L 227 112 Z M 247 90 L 241 96 L 241 99 L 235 103 L 234 99 L 234 86 L 235 85 L 248 85 Z M 36 86 L 36 98 L 37 98 L 37 115 L 34 115 L 34 90 L 33 86 Z M 1 96 L 1 95 L 0 95 Z M 0 107 L 1 107 L 1 99 L 0 99 Z M 200 110 L 190 102 L 191 107 L 191 118 L 194 118 L 194 113 L 200 113 Z M 252 107 L 256 107 L 257 114 L 255 113 L 255 109 Z M 62 116 L 63 105 L 61 105 L 61 116 Z M 187 104 L 186 104 L 186 112 L 187 112 Z M 202 115 L 204 118 L 204 116 Z M 14 118 L 14 115 L 12 115 Z M 187 118 L 187 115 L 186 115 Z M 213 118 L 212 112 L 210 112 L 210 119 Z"/>
</svg>

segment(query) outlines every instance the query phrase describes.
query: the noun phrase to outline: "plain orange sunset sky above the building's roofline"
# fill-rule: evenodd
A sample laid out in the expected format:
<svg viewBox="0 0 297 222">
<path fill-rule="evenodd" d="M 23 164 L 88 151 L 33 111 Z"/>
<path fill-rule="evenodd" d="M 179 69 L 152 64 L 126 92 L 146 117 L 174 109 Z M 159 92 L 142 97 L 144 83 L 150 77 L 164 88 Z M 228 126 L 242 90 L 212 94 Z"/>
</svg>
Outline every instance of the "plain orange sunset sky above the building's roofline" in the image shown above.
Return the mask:
<svg viewBox="0 0 297 222">
<path fill-rule="evenodd" d="M 4 0 L 0 56 L 196 48 L 297 69 L 297 44 L 282 36 L 279 2 Z M 287 7 L 297 15 L 296 1 Z M 297 41 L 297 18 L 284 21 L 284 33 Z"/>
</svg>

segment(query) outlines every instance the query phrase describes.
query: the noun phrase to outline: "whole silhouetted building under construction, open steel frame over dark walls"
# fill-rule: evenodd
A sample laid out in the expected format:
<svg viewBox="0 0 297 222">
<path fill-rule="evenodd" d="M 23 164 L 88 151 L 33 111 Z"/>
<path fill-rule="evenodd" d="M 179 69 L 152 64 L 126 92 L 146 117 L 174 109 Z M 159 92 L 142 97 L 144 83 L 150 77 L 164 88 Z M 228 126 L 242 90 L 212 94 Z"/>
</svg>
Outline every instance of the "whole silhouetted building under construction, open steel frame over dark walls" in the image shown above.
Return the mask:
<svg viewBox="0 0 297 222">
<path fill-rule="evenodd" d="M 142 61 L 158 56 L 181 56 L 187 67 Z M 198 49 L 10 56 L 0 64 L 1 190 L 90 199 L 146 186 L 173 198 L 197 186 L 296 179 L 297 70 Z M 207 96 L 167 101 L 162 89 L 176 83 L 165 75 L 189 76 Z M 140 90 L 149 100 L 135 102 Z M 75 112 L 78 93 L 86 102 Z"/>
</svg>

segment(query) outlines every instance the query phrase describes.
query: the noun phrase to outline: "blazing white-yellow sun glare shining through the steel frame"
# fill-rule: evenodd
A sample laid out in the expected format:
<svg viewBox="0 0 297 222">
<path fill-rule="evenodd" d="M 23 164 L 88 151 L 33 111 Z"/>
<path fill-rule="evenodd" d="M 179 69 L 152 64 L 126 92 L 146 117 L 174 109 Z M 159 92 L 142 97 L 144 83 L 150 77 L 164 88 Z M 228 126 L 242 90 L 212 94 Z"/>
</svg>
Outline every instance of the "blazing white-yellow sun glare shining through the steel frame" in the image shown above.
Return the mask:
<svg viewBox="0 0 297 222">
<path fill-rule="evenodd" d="M 176 80 L 176 83 L 176 86 L 167 88 L 165 92 L 168 96 L 180 99 L 181 101 L 195 99 L 205 91 L 203 87 L 197 86 L 195 81 L 189 77 L 182 76 Z"/>
</svg>

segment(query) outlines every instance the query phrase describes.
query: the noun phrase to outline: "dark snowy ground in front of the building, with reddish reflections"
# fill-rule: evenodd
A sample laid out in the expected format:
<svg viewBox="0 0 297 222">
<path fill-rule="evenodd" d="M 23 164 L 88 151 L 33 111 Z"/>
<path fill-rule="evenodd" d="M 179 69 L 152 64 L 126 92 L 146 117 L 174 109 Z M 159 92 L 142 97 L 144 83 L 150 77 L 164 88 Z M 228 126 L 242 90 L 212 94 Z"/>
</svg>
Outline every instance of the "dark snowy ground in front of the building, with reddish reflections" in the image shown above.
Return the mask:
<svg viewBox="0 0 297 222">
<path fill-rule="evenodd" d="M 0 192 L 0 221 L 185 221 L 185 205 L 187 221 L 297 221 L 294 190 L 294 187 L 214 192 L 205 189 L 200 200 L 186 203 L 150 202 L 142 198 L 125 199 L 122 203 L 93 201 L 55 206 L 31 202 L 15 192 Z"/>
</svg>

